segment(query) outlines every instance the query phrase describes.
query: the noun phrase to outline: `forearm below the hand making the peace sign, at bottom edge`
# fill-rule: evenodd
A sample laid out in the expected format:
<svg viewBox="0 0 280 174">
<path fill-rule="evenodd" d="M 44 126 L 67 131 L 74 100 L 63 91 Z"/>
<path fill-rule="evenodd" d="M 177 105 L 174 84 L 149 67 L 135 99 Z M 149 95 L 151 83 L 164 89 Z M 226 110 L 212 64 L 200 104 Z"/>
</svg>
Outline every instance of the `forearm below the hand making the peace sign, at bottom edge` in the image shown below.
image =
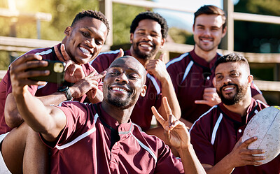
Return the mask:
<svg viewBox="0 0 280 174">
<path fill-rule="evenodd" d="M 177 149 L 177 151 L 180 154 L 185 173 L 206 173 L 197 159 L 193 145 L 188 145 L 186 149 Z"/>
</svg>

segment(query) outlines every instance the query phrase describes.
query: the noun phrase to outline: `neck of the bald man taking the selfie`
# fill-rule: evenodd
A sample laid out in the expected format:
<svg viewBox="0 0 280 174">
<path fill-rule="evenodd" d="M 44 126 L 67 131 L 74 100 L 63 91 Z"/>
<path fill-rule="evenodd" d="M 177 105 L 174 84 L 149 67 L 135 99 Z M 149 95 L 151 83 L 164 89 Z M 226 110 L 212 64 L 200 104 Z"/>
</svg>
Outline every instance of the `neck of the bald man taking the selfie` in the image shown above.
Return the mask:
<svg viewBox="0 0 280 174">
<path fill-rule="evenodd" d="M 106 110 L 106 113 L 108 113 L 111 117 L 122 124 L 128 122 L 134 107 L 123 109 L 117 106 L 113 106 L 110 103 L 106 103 L 106 101 L 102 101 L 102 108 Z"/>
</svg>

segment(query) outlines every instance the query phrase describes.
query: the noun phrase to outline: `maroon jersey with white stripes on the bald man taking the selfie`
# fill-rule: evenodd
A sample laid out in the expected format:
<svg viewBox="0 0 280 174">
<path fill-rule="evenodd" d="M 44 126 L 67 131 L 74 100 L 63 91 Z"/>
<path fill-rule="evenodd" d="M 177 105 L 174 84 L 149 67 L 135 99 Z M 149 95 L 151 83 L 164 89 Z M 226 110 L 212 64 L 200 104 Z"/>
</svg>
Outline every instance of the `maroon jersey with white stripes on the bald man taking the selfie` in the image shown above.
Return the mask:
<svg viewBox="0 0 280 174">
<path fill-rule="evenodd" d="M 119 124 L 101 103 L 63 102 L 66 126 L 51 152 L 50 173 L 184 173 L 183 164 L 160 138 L 131 121 Z M 111 147 L 111 129 L 120 140 Z"/>
</svg>

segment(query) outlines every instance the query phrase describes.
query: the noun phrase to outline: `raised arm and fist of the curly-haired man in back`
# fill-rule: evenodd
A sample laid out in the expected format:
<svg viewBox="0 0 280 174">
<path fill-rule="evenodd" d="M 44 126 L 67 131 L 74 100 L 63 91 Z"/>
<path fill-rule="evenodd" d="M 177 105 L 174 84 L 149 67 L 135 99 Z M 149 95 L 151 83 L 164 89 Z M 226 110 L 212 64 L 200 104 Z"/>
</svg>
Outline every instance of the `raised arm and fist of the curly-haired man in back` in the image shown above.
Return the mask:
<svg viewBox="0 0 280 174">
<path fill-rule="evenodd" d="M 172 109 L 172 113 L 179 119 L 181 117 L 181 109 L 179 102 L 176 97 L 176 93 L 174 91 L 174 86 L 172 84 L 172 80 L 170 78 L 169 73 L 167 72 L 167 68 L 165 66 L 165 62 L 163 61 L 163 56 L 160 55 L 159 59 L 153 59 L 148 62 L 146 65 L 148 73 L 155 75 L 158 80 L 160 80 L 162 84 L 162 97 L 167 97 L 169 101 L 169 106 Z M 165 107 L 162 105 L 158 108 L 158 111 L 162 117 L 167 119 L 167 115 L 165 113 Z"/>
</svg>

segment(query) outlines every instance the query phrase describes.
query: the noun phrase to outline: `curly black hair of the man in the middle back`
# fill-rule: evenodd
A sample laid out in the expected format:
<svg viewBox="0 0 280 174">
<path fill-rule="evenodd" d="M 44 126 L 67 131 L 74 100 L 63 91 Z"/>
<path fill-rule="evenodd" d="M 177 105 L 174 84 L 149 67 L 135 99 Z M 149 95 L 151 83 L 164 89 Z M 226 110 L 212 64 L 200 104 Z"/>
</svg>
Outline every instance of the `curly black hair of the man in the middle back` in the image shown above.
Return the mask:
<svg viewBox="0 0 280 174">
<path fill-rule="evenodd" d="M 162 17 L 158 13 L 154 13 L 151 11 L 145 11 L 142 13 L 139 13 L 134 20 L 132 21 L 132 24 L 130 25 L 130 33 L 133 34 L 135 29 L 138 27 L 138 24 L 141 20 L 154 20 L 155 22 L 158 22 L 160 24 L 160 27 L 162 28 L 162 38 L 167 38 L 167 32 L 168 32 L 168 25 L 164 17 Z"/>
</svg>

